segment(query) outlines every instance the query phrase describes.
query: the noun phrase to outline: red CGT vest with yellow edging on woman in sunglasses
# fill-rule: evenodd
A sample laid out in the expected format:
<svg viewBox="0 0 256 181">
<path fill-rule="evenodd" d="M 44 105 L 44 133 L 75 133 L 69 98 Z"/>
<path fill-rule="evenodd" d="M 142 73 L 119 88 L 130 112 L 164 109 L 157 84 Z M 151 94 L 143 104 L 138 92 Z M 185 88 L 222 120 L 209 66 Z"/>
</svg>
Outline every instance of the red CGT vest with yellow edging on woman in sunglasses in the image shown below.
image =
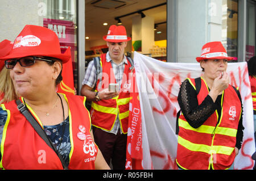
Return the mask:
<svg viewBox="0 0 256 181">
<path fill-rule="evenodd" d="M 69 106 L 69 132 L 71 152 L 68 169 L 94 169 L 98 148 L 90 136 L 90 116 L 84 103 L 85 97 L 64 95 Z M 24 99 L 20 98 L 24 103 Z M 26 117 L 18 111 L 15 100 L 1 104 L 7 111 L 1 143 L 1 169 L 63 169 L 60 159 L 46 142 L 32 128 Z M 42 123 L 27 105 L 35 119 Z M 42 126 L 43 128 L 43 126 Z M 81 129 L 82 128 L 82 129 Z M 79 139 L 81 130 L 85 140 Z M 80 137 L 81 138 L 81 137 Z"/>
</svg>

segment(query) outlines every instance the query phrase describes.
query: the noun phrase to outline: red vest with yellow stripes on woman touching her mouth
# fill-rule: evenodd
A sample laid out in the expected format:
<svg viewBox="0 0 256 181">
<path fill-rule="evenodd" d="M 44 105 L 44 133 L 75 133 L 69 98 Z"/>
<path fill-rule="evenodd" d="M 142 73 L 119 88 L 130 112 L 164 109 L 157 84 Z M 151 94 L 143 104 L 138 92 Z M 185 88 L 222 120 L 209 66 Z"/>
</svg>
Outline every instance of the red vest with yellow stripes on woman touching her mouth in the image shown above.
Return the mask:
<svg viewBox="0 0 256 181">
<path fill-rule="evenodd" d="M 189 79 L 195 88 L 195 79 Z M 201 78 L 201 89 L 197 95 L 199 105 L 209 90 Z M 207 170 L 228 169 L 236 156 L 236 135 L 241 116 L 241 102 L 237 92 L 229 85 L 222 92 L 221 115 L 217 110 L 199 128 L 191 127 L 185 117 L 179 117 L 177 164 L 183 169 Z M 218 117 L 220 122 L 217 123 Z"/>
</svg>

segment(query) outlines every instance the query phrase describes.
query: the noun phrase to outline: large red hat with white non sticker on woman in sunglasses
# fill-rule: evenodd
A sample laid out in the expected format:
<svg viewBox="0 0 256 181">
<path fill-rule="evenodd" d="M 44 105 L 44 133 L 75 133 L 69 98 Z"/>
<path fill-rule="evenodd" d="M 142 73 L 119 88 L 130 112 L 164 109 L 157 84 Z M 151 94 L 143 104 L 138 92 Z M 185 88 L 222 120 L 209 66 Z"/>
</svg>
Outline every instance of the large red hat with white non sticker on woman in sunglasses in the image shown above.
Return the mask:
<svg viewBox="0 0 256 181">
<path fill-rule="evenodd" d="M 16 37 L 10 53 L 0 60 L 27 56 L 47 56 L 59 58 L 63 64 L 71 57 L 60 52 L 59 39 L 55 32 L 48 28 L 26 25 Z"/>
</svg>

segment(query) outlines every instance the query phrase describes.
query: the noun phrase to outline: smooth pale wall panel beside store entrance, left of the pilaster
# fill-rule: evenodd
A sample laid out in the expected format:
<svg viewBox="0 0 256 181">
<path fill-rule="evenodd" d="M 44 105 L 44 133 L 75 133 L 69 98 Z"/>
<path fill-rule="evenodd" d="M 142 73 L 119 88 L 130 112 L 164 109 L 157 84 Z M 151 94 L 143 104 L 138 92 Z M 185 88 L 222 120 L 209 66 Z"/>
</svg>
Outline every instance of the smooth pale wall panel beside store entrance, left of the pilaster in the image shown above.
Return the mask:
<svg viewBox="0 0 256 181">
<path fill-rule="evenodd" d="M 207 1 L 178 1 L 178 62 L 196 62 L 207 39 Z"/>
</svg>

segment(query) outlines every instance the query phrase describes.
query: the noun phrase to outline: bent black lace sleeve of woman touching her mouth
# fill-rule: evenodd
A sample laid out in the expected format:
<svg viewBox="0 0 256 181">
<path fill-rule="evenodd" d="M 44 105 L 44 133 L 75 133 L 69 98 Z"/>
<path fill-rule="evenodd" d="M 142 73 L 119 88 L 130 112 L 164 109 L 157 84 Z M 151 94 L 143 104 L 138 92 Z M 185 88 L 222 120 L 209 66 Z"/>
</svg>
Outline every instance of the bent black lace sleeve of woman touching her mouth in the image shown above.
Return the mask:
<svg viewBox="0 0 256 181">
<path fill-rule="evenodd" d="M 177 100 L 188 124 L 193 128 L 199 128 L 217 109 L 212 98 L 207 95 L 199 105 L 197 101 L 196 90 L 193 88 L 188 79 L 181 83 Z"/>
</svg>

